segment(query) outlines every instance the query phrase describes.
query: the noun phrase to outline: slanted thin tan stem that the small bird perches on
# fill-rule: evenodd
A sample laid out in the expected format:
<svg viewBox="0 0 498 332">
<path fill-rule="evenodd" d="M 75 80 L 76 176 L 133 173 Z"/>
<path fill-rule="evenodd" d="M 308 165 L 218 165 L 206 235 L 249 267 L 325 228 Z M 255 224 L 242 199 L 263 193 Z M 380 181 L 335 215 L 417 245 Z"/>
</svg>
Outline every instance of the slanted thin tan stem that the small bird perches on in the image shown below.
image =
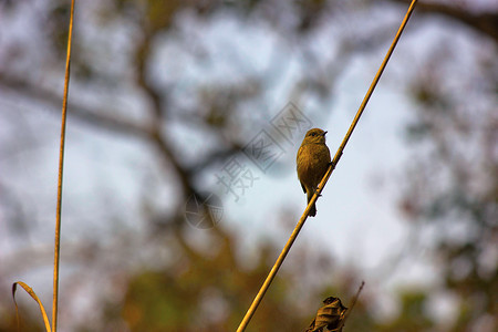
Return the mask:
<svg viewBox="0 0 498 332">
<path fill-rule="evenodd" d="M 249 324 L 249 321 L 251 320 L 252 315 L 256 312 L 256 309 L 258 309 L 258 305 L 261 303 L 261 300 L 264 297 L 264 293 L 267 292 L 268 288 L 270 287 L 271 282 L 273 281 L 273 278 L 277 276 L 277 272 L 279 271 L 283 260 L 286 259 L 287 255 L 289 253 L 289 250 L 292 247 L 295 238 L 298 237 L 299 231 L 304 226 L 304 221 L 308 218 L 308 212 L 310 211 L 311 207 L 313 206 L 313 204 L 317 201 L 318 197 L 320 196 L 320 193 L 322 191 L 323 187 L 325 186 L 326 181 L 329 180 L 330 176 L 332 175 L 332 172 L 334 170 L 335 165 L 338 165 L 339 159 L 342 156 L 342 152 L 344 151 L 344 147 L 346 146 L 347 141 L 350 139 L 351 134 L 354 131 L 354 127 L 356 126 L 357 122 L 360 121 L 360 117 L 362 116 L 363 111 L 365 110 L 366 104 L 369 103 L 369 100 L 372 96 L 372 93 L 375 90 L 375 86 L 377 85 L 378 80 L 382 76 L 382 73 L 384 72 L 384 69 L 387 64 L 387 61 L 391 58 L 391 54 L 393 54 L 393 51 L 396 48 L 397 41 L 400 40 L 400 37 L 402 35 L 403 30 L 405 29 L 406 23 L 408 22 L 408 19 L 412 15 L 412 12 L 415 8 L 416 2 L 417 2 L 417 0 L 413 0 L 412 3 L 409 4 L 409 8 L 405 14 L 405 18 L 403 19 L 403 21 L 400 25 L 400 29 L 397 30 L 397 33 L 394 37 L 394 40 L 391 43 L 390 49 L 387 50 L 387 54 L 384 56 L 384 61 L 382 62 L 381 68 L 378 69 L 377 73 L 375 74 L 375 77 L 373 79 L 372 84 L 370 85 L 370 89 L 366 92 L 366 95 L 363 98 L 363 102 L 361 103 L 360 108 L 357 110 L 356 115 L 355 115 L 350 128 L 347 129 L 347 133 L 346 133 L 344 139 L 341 143 L 341 146 L 339 147 L 338 152 L 335 153 L 335 156 L 331 163 L 331 166 L 329 167 L 325 175 L 323 176 L 323 179 L 320 183 L 320 185 L 318 186 L 315 194 L 309 201 L 304 212 L 302 214 L 301 218 L 299 219 L 298 225 L 295 226 L 294 230 L 292 231 L 292 235 L 290 236 L 289 240 L 287 241 L 286 247 L 283 247 L 282 251 L 280 252 L 279 258 L 277 259 L 276 263 L 271 268 L 270 273 L 268 274 L 267 279 L 264 280 L 263 284 L 261 286 L 255 300 L 252 301 L 251 307 L 246 312 L 246 315 L 243 317 L 242 322 L 240 323 L 239 328 L 237 329 L 237 332 L 242 332 L 246 330 L 247 325 Z"/>
</svg>

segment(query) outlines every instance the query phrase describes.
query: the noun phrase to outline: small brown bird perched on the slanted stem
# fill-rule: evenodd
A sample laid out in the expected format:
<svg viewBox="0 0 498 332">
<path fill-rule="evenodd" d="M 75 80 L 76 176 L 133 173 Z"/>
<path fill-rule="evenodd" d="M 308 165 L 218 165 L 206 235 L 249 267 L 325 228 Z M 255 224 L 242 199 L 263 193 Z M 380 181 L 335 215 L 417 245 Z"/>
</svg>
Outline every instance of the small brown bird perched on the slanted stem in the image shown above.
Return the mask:
<svg viewBox="0 0 498 332">
<path fill-rule="evenodd" d="M 308 203 L 317 191 L 331 162 L 330 151 L 325 144 L 325 134 L 326 132 L 320 128 L 308 131 L 298 151 L 298 178 L 301 181 L 302 190 L 308 196 Z M 313 204 L 308 216 L 314 217 L 315 215 L 317 207 Z"/>
</svg>

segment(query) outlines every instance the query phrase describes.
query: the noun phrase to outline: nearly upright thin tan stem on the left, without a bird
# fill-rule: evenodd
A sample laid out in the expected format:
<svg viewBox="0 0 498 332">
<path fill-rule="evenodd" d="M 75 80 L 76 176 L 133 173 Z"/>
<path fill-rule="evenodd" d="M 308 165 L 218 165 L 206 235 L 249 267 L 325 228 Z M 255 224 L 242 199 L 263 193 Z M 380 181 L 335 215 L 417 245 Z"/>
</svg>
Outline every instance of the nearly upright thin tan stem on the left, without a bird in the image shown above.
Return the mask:
<svg viewBox="0 0 498 332">
<path fill-rule="evenodd" d="M 59 305 L 59 261 L 61 252 L 61 210 L 62 210 L 62 178 L 64 170 L 64 144 L 65 144 L 65 120 L 68 111 L 68 92 L 71 65 L 71 40 L 73 34 L 74 0 L 71 1 L 71 17 L 68 34 L 68 56 L 65 60 L 64 96 L 62 100 L 61 120 L 61 147 L 59 151 L 59 179 L 58 179 L 58 207 L 55 215 L 55 245 L 53 255 L 53 302 L 52 302 L 52 332 L 58 330 L 58 305 Z"/>
</svg>

